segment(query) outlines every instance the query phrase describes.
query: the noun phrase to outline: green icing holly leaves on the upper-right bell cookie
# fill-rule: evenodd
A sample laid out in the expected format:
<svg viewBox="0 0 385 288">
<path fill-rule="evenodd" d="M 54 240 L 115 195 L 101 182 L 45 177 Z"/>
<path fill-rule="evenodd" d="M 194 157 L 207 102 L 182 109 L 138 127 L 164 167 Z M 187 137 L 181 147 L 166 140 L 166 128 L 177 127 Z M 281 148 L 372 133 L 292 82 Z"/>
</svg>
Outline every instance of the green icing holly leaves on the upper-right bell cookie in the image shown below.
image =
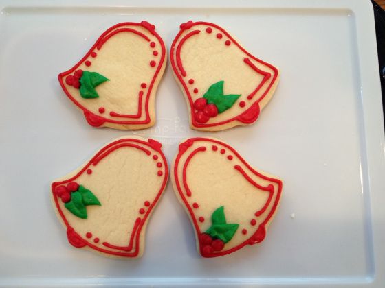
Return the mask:
<svg viewBox="0 0 385 288">
<path fill-rule="evenodd" d="M 218 108 L 218 112 L 222 113 L 228 108 L 231 108 L 235 101 L 241 96 L 241 94 L 223 94 L 223 83 L 224 81 L 219 81 L 215 84 L 212 84 L 208 91 L 204 93 L 203 98 L 207 100 L 208 104 L 215 104 Z"/>
</svg>

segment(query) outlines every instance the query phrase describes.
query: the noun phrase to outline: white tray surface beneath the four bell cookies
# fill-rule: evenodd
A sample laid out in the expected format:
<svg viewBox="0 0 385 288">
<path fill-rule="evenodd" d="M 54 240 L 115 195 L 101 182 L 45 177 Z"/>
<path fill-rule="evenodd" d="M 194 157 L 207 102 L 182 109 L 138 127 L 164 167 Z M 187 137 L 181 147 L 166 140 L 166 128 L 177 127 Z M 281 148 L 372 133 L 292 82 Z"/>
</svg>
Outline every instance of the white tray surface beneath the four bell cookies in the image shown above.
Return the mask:
<svg viewBox="0 0 385 288">
<path fill-rule="evenodd" d="M 63 8 L 0 1 L 0 285 L 382 287 L 384 136 L 371 3 L 206 2 L 168 0 L 156 8 L 156 1 L 69 1 Z M 168 65 L 153 128 L 89 126 L 56 75 L 111 25 L 142 20 L 156 25 L 168 50 L 181 23 L 217 23 L 281 69 L 257 123 L 217 133 L 190 130 Z M 169 163 L 181 139 L 214 136 L 281 177 L 281 207 L 265 241 L 201 258 L 169 183 L 148 224 L 142 259 L 106 259 L 69 245 L 50 203 L 50 182 L 104 143 L 132 134 L 164 143 Z"/>
</svg>

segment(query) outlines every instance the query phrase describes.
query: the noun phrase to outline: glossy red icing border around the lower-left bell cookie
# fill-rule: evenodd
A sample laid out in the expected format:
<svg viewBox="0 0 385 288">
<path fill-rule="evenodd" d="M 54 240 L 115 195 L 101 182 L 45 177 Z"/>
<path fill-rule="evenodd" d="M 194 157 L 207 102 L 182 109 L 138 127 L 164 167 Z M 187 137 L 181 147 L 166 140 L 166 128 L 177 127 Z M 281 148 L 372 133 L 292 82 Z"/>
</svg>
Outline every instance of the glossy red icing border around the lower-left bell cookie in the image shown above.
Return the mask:
<svg viewBox="0 0 385 288">
<path fill-rule="evenodd" d="M 129 142 L 129 143 L 127 143 L 127 142 Z M 72 228 L 72 226 L 70 226 L 69 222 L 65 218 L 65 215 L 64 215 L 63 211 L 61 210 L 61 205 L 59 204 L 60 198 L 56 195 L 56 187 L 60 187 L 61 185 L 66 185 L 70 182 L 75 182 L 75 180 L 79 176 L 81 176 L 83 173 L 85 173 L 85 171 L 87 171 L 87 169 L 89 169 L 89 167 L 91 165 L 94 167 L 97 167 L 98 162 L 102 158 L 108 156 L 109 153 L 111 153 L 115 150 L 115 149 L 113 149 L 113 147 L 115 147 L 115 145 L 120 145 L 122 143 L 126 143 L 126 144 L 139 143 L 139 144 L 148 146 L 148 149 L 153 149 L 151 144 L 146 142 L 146 141 L 142 141 L 139 139 L 129 139 L 129 138 L 118 139 L 117 141 L 114 141 L 113 143 L 109 143 L 108 145 L 106 145 L 105 147 L 100 149 L 100 151 L 98 153 L 96 153 L 96 155 L 91 160 L 89 160 L 89 163 L 87 163 L 87 165 L 85 165 L 85 167 L 83 167 L 83 169 L 81 169 L 75 176 L 73 176 L 72 178 L 69 178 L 67 180 L 61 181 L 61 182 L 54 182 L 54 183 L 52 183 L 51 188 L 52 188 L 52 195 L 54 197 L 54 202 L 56 204 L 56 208 L 58 210 L 58 213 L 61 216 L 61 219 L 63 220 L 65 226 L 67 227 L 67 238 L 68 238 L 69 243 L 71 243 L 71 245 L 73 245 L 76 248 L 83 248 L 85 246 L 89 246 L 89 248 L 92 248 L 92 249 L 97 250 L 99 252 L 104 252 L 106 254 L 111 254 L 111 255 L 115 255 L 115 256 L 135 257 L 139 253 L 139 248 L 140 248 L 139 247 L 139 245 L 140 245 L 139 240 L 140 240 L 140 232 L 142 230 L 142 227 L 144 226 L 148 216 L 151 214 L 151 211 L 153 210 L 155 204 L 157 204 L 159 197 L 162 195 L 162 191 L 164 191 L 164 187 L 166 187 L 166 182 L 167 182 L 167 178 L 168 178 L 168 165 L 166 162 L 166 158 L 162 152 L 156 150 L 157 152 L 159 152 L 159 156 L 162 157 L 162 162 L 163 162 L 163 165 L 165 167 L 165 170 L 164 170 L 165 174 L 164 174 L 162 186 L 160 187 L 159 191 L 157 192 L 157 195 L 155 196 L 155 199 L 153 200 L 152 204 L 150 206 L 148 206 L 148 209 L 147 209 L 146 213 L 142 216 L 142 219 L 141 218 L 136 219 L 135 225 L 134 225 L 132 233 L 131 233 L 131 237 L 129 240 L 130 243 L 129 243 L 128 247 L 119 247 L 119 246 L 109 245 L 109 243 L 107 243 L 107 242 L 103 242 L 102 244 L 105 247 L 116 250 L 116 251 L 111 251 L 111 250 L 104 249 L 100 246 L 94 245 L 94 243 L 99 242 L 98 238 L 95 238 L 94 243 L 91 243 L 91 241 L 88 241 L 87 239 L 80 237 L 80 235 L 78 235 L 78 233 L 76 233 L 74 231 L 74 228 Z M 96 160 L 96 164 L 94 164 L 95 160 Z M 134 243 L 135 243 L 135 250 L 133 252 L 130 252 L 132 250 Z M 131 245 L 131 248 L 130 248 L 130 245 Z"/>
</svg>

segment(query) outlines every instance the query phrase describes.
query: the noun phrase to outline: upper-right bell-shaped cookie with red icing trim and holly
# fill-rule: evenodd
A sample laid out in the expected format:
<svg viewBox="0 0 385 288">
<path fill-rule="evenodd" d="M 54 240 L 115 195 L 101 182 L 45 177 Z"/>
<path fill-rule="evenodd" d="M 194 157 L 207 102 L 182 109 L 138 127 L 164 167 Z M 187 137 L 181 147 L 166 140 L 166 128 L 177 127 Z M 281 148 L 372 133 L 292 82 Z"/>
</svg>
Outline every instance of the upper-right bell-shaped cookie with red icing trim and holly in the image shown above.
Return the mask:
<svg viewBox="0 0 385 288">
<path fill-rule="evenodd" d="M 170 62 L 187 101 L 190 127 L 196 130 L 254 123 L 279 79 L 276 67 L 252 56 L 223 28 L 207 22 L 181 25 Z"/>
</svg>

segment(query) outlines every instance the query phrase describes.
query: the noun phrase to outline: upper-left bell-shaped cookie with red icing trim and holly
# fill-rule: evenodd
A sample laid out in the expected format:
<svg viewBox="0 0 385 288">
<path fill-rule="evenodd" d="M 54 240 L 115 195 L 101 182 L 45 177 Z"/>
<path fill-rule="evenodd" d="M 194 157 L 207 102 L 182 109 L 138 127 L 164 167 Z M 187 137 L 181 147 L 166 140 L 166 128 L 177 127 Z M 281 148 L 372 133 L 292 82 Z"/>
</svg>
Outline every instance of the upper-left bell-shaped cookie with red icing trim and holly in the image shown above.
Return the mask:
<svg viewBox="0 0 385 288">
<path fill-rule="evenodd" d="M 155 123 L 155 93 L 166 67 L 166 47 L 146 21 L 107 29 L 58 80 L 89 125 L 120 130 Z"/>
</svg>

